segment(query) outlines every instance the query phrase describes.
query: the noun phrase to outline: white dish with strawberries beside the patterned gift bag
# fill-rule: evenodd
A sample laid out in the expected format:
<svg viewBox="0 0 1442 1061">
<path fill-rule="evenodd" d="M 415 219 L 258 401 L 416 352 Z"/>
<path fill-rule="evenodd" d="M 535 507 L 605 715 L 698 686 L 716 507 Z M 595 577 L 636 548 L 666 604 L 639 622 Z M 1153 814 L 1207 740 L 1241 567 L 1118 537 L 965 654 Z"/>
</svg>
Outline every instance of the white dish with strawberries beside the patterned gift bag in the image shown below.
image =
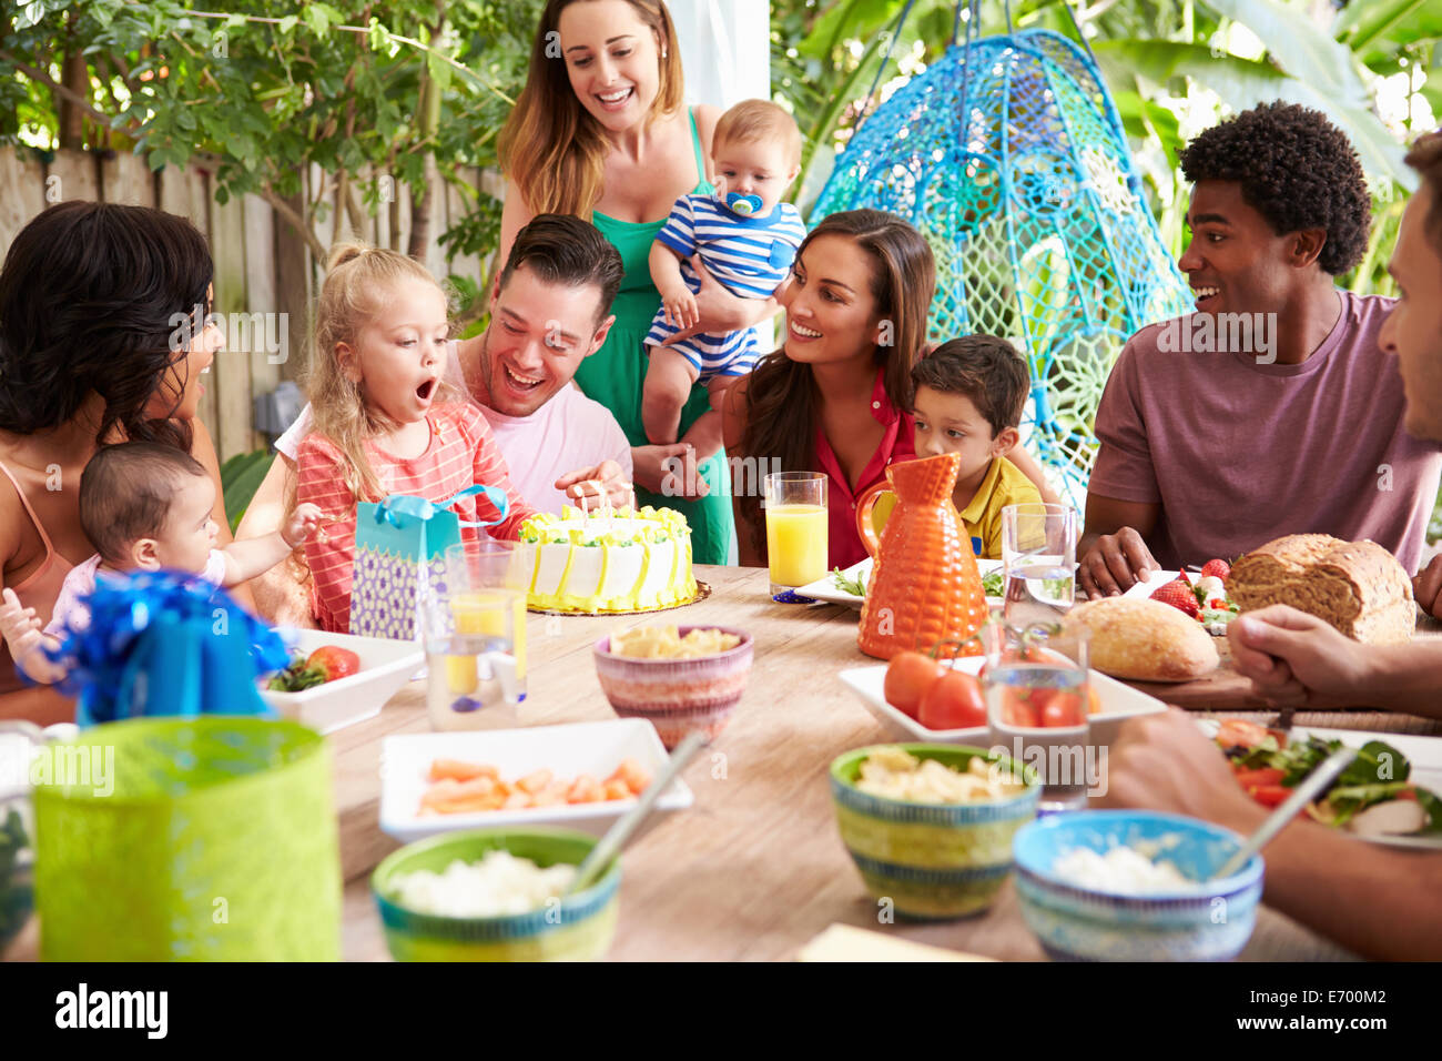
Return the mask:
<svg viewBox="0 0 1442 1061">
<path fill-rule="evenodd" d="M 425 652 L 415 641 L 326 634 L 320 629 L 283 629 L 286 642 L 310 655 L 323 645 L 349 648 L 360 657 L 360 670 L 300 693 L 277 693 L 261 686 L 261 699 L 281 717 L 332 733 L 381 713 L 386 700 L 424 668 Z M 270 674 L 265 676 L 270 680 Z"/>
</svg>

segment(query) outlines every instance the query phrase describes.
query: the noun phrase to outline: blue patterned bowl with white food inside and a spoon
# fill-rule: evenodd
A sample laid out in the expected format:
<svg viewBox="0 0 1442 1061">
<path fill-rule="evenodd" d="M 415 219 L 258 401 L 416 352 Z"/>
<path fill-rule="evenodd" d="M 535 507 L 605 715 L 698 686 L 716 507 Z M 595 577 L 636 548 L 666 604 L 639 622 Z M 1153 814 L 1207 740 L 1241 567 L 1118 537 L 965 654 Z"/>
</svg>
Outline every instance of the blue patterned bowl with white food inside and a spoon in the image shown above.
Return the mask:
<svg viewBox="0 0 1442 1061">
<path fill-rule="evenodd" d="M 1146 895 L 1084 888 L 1051 872 L 1069 850 L 1105 853 L 1118 844 L 1155 846 L 1184 876 L 1203 881 L 1231 857 L 1242 837 L 1152 811 L 1079 811 L 1032 821 L 1017 833 L 1017 895 L 1047 954 L 1071 961 L 1227 961 L 1242 951 L 1262 898 L 1260 855 L 1233 876 Z"/>
</svg>

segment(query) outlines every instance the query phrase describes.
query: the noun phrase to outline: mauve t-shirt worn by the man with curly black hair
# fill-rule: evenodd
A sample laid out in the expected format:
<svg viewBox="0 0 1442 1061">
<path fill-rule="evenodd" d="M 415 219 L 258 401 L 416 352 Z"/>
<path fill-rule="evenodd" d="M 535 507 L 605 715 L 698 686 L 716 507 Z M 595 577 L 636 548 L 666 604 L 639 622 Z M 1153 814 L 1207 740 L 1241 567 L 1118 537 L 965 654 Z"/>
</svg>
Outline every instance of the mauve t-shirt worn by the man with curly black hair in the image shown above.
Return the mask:
<svg viewBox="0 0 1442 1061">
<path fill-rule="evenodd" d="M 1442 452 L 1402 426 L 1396 358 L 1377 346 L 1393 300 L 1338 294 L 1337 326 L 1299 365 L 1164 352 L 1161 325 L 1122 349 L 1087 491 L 1161 504 L 1146 544 L 1164 567 L 1315 531 L 1371 538 L 1416 572 Z"/>
</svg>

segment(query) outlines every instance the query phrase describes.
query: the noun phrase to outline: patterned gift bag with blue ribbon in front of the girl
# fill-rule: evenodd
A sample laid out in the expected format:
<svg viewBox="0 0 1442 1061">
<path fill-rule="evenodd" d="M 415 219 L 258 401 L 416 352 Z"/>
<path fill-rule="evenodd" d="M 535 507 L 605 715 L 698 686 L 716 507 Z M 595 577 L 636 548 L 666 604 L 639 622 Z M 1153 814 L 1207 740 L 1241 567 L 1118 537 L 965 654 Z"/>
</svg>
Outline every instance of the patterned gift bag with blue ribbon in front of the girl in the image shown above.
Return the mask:
<svg viewBox="0 0 1442 1061">
<path fill-rule="evenodd" d="M 483 494 L 500 512 L 496 520 L 461 520 L 450 511 L 461 498 Z M 420 629 L 423 589 L 444 592 L 446 550 L 463 527 L 505 523 L 510 504 L 499 486 L 467 486 L 441 502 L 392 494 L 356 505 L 356 559 L 350 580 L 350 632 L 411 641 Z"/>
</svg>

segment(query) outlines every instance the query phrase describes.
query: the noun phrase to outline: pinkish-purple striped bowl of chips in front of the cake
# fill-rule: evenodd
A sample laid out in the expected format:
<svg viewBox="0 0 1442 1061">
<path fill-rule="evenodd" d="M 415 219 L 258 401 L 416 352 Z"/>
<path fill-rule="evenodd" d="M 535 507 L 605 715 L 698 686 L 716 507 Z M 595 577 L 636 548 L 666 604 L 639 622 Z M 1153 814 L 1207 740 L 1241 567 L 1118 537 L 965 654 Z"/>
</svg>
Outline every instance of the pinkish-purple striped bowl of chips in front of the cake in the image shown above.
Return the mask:
<svg viewBox="0 0 1442 1061">
<path fill-rule="evenodd" d="M 668 749 L 694 729 L 720 733 L 751 673 L 751 635 L 744 629 L 709 624 L 676 628 L 681 637 L 692 629 L 735 634 L 741 644 L 695 660 L 639 660 L 613 655 L 610 637 L 596 642 L 596 677 L 611 707 L 623 719 L 649 719 Z"/>
</svg>

